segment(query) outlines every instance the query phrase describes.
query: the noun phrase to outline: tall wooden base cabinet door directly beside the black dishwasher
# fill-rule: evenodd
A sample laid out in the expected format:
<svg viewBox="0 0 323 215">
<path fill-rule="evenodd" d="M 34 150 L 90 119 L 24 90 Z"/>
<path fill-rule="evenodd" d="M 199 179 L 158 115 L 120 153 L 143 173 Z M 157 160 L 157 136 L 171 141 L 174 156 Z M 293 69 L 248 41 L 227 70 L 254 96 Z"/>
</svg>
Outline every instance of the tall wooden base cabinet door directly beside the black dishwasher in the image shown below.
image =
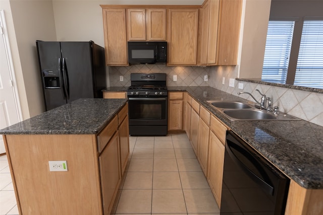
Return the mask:
<svg viewBox="0 0 323 215">
<path fill-rule="evenodd" d="M 225 146 L 212 131 L 209 137 L 209 164 L 207 180 L 218 205 L 221 205 Z"/>
</svg>

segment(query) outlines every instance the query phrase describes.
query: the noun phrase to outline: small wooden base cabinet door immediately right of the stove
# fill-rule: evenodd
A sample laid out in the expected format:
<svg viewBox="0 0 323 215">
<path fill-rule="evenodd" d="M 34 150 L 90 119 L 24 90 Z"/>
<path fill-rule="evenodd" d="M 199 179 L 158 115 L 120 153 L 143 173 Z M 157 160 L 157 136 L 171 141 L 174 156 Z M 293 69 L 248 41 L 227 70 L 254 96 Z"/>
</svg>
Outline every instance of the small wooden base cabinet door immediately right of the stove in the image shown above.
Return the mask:
<svg viewBox="0 0 323 215">
<path fill-rule="evenodd" d="M 183 101 L 169 101 L 168 130 L 183 130 Z"/>
</svg>

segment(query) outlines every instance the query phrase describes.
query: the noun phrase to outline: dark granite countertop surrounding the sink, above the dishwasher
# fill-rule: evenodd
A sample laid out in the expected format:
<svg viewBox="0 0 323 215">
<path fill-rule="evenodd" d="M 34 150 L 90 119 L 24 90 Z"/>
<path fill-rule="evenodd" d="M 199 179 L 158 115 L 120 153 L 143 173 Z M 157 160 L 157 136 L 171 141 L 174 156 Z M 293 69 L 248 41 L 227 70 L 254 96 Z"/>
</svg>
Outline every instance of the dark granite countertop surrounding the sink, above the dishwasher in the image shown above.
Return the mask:
<svg viewBox="0 0 323 215">
<path fill-rule="evenodd" d="M 306 189 L 323 189 L 323 126 L 300 121 L 230 121 L 208 100 L 244 99 L 211 87 L 168 87 L 187 91 L 262 156 Z"/>
</svg>

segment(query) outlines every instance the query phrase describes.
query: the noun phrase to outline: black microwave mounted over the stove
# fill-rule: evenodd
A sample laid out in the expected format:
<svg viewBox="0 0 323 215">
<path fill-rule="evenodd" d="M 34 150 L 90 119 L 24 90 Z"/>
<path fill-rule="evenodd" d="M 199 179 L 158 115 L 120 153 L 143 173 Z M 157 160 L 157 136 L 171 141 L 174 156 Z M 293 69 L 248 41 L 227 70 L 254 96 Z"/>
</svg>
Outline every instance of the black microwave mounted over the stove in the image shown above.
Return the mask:
<svg viewBox="0 0 323 215">
<path fill-rule="evenodd" d="M 167 63 L 167 42 L 128 42 L 129 64 Z"/>
</svg>

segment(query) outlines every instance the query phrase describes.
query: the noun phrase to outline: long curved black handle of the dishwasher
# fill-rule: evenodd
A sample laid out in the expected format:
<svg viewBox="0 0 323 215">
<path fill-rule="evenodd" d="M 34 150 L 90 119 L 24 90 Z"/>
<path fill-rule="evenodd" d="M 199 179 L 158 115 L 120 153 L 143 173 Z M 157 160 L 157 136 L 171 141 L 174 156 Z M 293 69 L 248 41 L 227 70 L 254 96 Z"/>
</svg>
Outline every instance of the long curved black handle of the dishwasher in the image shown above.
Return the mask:
<svg viewBox="0 0 323 215">
<path fill-rule="evenodd" d="M 269 183 L 265 182 L 264 180 L 262 180 L 261 178 L 259 178 L 256 174 L 254 174 L 248 167 L 246 167 L 237 157 L 236 155 L 232 152 L 231 147 L 233 147 L 231 145 L 231 141 L 227 140 L 227 144 L 226 144 L 226 149 L 227 152 L 229 153 L 230 157 L 242 168 L 242 170 L 249 176 L 251 177 L 259 186 L 261 186 L 262 189 L 264 189 L 266 192 L 268 192 L 269 194 L 273 195 L 274 193 L 274 187 L 271 186 Z M 241 150 L 243 150 L 241 147 L 235 145 L 236 147 L 233 147 L 235 149 L 240 148 Z M 238 149 L 237 149 L 238 150 Z M 245 154 L 245 153 L 243 153 Z M 246 157 L 248 160 L 250 160 L 248 157 Z"/>
</svg>

